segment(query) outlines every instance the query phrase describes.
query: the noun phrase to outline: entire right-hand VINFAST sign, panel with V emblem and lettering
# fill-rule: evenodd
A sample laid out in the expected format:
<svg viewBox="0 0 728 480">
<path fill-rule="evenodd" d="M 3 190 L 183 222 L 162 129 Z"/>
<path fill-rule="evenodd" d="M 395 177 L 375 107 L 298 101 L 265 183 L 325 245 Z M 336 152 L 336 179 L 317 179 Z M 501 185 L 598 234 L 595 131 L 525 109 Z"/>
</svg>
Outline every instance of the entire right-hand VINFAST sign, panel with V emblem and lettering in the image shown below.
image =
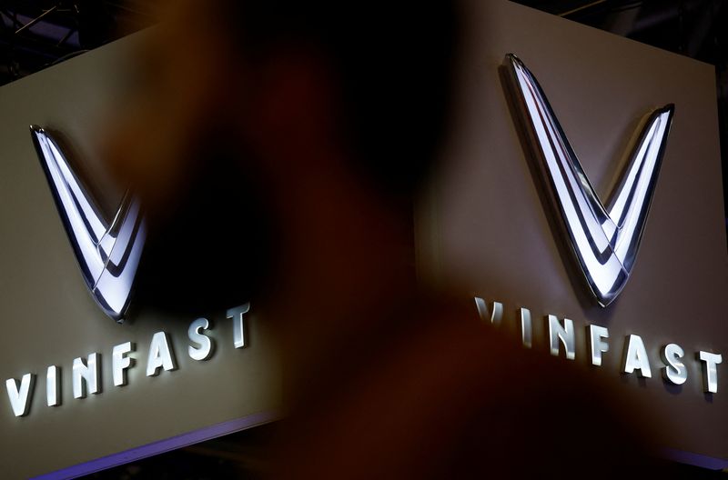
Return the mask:
<svg viewBox="0 0 728 480">
<path fill-rule="evenodd" d="M 613 381 L 678 437 L 665 446 L 728 466 L 713 67 L 512 2 L 469 5 L 447 166 L 420 205 L 423 265 L 489 295 L 481 314 L 523 345 Z"/>
</svg>

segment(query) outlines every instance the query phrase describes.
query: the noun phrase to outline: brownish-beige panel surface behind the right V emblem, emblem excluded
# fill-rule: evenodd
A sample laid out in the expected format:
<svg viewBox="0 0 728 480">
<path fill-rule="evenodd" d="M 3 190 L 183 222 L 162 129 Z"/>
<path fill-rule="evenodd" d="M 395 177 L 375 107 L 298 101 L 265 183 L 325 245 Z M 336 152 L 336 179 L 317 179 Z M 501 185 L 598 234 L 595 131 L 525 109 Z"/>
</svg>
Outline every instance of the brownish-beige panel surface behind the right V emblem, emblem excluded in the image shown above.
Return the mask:
<svg viewBox="0 0 728 480">
<path fill-rule="evenodd" d="M 625 395 L 647 405 L 673 434 L 663 446 L 689 454 L 681 457 L 688 461 L 724 465 L 728 363 L 716 366 L 717 393 L 705 393 L 707 363 L 697 357 L 701 351 L 703 358 L 728 355 L 728 262 L 713 66 L 511 2 L 470 4 L 446 165 L 420 211 L 423 262 L 441 282 L 464 279 L 473 295 L 483 298 L 488 315 L 490 303 L 501 302 L 501 324 L 514 332 L 520 332 L 519 309 L 528 308 L 534 349 L 550 351 L 547 315 L 561 325 L 571 319 L 573 362 L 594 375 L 612 376 Z M 605 308 L 571 257 L 552 205 L 541 199 L 540 173 L 530 166 L 529 145 L 511 113 L 499 70 L 510 53 L 540 82 L 602 198 L 618 180 L 645 115 L 675 105 L 641 249 L 621 295 Z M 588 325 L 609 333 L 601 366 L 592 365 Z M 600 340 L 602 330 L 592 332 Z M 636 368 L 623 373 L 628 335 L 642 338 L 652 377 L 641 378 L 644 371 Z M 627 370 L 643 362 L 637 339 L 631 338 Z M 662 348 L 669 344 L 684 351 L 682 385 L 662 377 Z M 668 355 L 677 351 L 671 347 Z M 562 345 L 559 352 L 565 356 Z"/>
</svg>

